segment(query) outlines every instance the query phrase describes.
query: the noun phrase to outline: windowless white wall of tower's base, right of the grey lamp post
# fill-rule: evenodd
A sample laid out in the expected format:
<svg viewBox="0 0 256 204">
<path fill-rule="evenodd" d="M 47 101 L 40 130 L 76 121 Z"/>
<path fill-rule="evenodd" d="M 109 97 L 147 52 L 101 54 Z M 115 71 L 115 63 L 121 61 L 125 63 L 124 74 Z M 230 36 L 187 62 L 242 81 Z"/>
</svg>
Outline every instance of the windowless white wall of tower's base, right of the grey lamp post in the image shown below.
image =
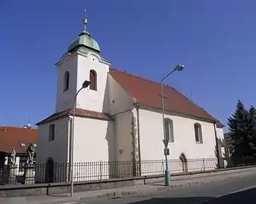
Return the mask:
<svg viewBox="0 0 256 204">
<path fill-rule="evenodd" d="M 74 131 L 75 181 L 108 179 L 117 153 L 114 122 L 76 117 Z"/>
</svg>

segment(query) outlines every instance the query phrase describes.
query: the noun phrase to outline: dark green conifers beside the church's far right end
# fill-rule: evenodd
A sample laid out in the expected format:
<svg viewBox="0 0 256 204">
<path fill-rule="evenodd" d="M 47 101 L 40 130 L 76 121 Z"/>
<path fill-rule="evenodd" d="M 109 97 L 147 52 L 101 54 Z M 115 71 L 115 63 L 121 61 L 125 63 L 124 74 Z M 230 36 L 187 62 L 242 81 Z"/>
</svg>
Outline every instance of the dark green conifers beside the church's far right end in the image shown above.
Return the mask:
<svg viewBox="0 0 256 204">
<path fill-rule="evenodd" d="M 228 119 L 229 134 L 233 140 L 233 156 L 251 156 L 255 152 L 254 125 L 255 109 L 246 110 L 242 101 L 236 104 L 236 111 Z"/>
</svg>

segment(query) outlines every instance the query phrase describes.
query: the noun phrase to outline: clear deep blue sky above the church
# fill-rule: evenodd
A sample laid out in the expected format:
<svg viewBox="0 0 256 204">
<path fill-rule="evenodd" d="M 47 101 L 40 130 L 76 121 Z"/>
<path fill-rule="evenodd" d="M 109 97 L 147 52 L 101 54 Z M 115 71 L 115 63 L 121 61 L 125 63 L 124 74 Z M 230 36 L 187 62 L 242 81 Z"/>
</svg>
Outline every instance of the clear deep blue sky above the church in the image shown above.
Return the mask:
<svg viewBox="0 0 256 204">
<path fill-rule="evenodd" d="M 237 100 L 255 105 L 256 1 L 55 0 L 0 2 L 0 125 L 55 112 L 55 63 L 83 29 L 112 67 L 165 82 L 226 125 Z M 226 129 L 226 127 L 225 127 Z"/>
</svg>

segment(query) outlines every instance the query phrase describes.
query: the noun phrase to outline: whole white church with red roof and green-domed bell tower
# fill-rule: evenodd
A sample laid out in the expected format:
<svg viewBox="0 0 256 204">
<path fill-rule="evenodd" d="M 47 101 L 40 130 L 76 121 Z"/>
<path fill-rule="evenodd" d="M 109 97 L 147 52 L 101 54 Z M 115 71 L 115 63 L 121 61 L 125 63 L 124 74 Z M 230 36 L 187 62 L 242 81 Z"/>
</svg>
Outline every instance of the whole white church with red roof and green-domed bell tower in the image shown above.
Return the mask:
<svg viewBox="0 0 256 204">
<path fill-rule="evenodd" d="M 75 178 L 100 179 L 97 175 L 111 178 L 111 174 L 116 177 L 118 174 L 130 175 L 130 171 L 135 171 L 136 175 L 154 171 L 161 174 L 164 171 L 161 84 L 111 68 L 111 63 L 101 57 L 100 46 L 87 31 L 86 23 L 85 19 L 85 29 L 56 63 L 56 110 L 37 124 L 36 163 L 49 166 L 55 162 L 70 162 L 70 140 L 74 131 L 73 162 L 115 162 L 114 167 L 107 169 L 105 166 L 103 173 L 99 172 L 102 171 L 100 168 L 95 172 L 95 166 L 91 169 L 86 165 L 86 169 L 74 170 Z M 72 121 L 76 92 L 86 80 L 91 83 L 77 94 Z M 164 85 L 164 124 L 170 138 L 170 172 L 187 172 L 190 164 L 195 165 L 190 161 L 195 159 L 217 158 L 217 138 L 223 139 L 223 125 L 167 85 Z M 220 158 L 223 150 L 218 149 Z M 172 162 L 174 160 L 176 162 Z M 136 161 L 135 166 L 133 161 Z M 118 164 L 122 162 L 130 162 L 133 170 L 120 168 Z M 149 163 L 155 165 L 154 169 L 148 167 Z M 201 162 L 197 165 L 193 168 L 203 168 Z M 68 172 L 67 168 L 64 172 Z M 117 168 L 119 170 L 115 172 Z M 57 171 L 57 166 L 55 169 Z M 45 171 L 49 171 L 51 177 L 55 170 L 45 168 Z M 85 176 L 93 171 L 93 178 Z M 60 176 L 55 178 L 55 181 L 61 180 Z"/>
</svg>

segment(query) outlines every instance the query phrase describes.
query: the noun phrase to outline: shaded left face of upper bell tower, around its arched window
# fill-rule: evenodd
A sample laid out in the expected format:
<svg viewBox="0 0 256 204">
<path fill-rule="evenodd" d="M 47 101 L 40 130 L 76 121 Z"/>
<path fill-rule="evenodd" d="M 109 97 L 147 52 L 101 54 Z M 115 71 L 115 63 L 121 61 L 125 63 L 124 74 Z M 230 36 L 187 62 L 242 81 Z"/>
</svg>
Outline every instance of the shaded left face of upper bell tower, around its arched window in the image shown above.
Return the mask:
<svg viewBox="0 0 256 204">
<path fill-rule="evenodd" d="M 73 98 L 76 94 L 76 66 L 76 54 L 67 54 L 62 62 L 58 64 L 56 112 L 61 112 L 73 107 Z M 70 84 L 69 89 L 64 91 L 64 74 L 66 71 L 70 73 Z"/>
</svg>

